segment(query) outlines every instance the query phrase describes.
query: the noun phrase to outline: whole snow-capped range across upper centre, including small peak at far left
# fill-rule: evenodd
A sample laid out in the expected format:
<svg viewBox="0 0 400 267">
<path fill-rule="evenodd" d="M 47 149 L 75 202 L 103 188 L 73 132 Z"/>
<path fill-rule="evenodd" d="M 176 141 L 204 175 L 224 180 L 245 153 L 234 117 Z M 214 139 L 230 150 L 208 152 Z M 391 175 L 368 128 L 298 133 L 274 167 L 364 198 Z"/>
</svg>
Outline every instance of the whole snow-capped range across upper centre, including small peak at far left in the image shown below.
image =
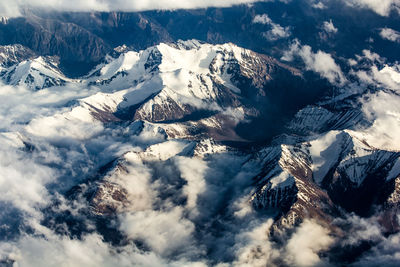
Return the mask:
<svg viewBox="0 0 400 267">
<path fill-rule="evenodd" d="M 66 78 L 56 62 L 42 57 L 6 68 L 2 77 L 33 90 L 66 84 L 98 88 L 68 113 L 79 120 L 142 120 L 162 125 L 174 138 L 218 140 L 244 140 L 234 128 L 260 116 L 255 106 L 269 100 L 270 81 L 302 79 L 298 70 L 233 44 L 192 40 L 114 52 L 82 79 Z"/>
</svg>

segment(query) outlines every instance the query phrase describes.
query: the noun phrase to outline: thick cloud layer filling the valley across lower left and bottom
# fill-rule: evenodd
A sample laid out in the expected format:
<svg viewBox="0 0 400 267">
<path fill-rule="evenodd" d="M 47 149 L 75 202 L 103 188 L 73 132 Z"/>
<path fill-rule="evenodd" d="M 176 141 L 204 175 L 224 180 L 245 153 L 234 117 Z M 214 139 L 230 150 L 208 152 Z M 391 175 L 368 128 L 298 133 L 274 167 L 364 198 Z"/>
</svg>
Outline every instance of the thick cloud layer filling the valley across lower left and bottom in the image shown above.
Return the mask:
<svg viewBox="0 0 400 267">
<path fill-rule="evenodd" d="M 7 103 L 0 108 L 0 205 L 21 216 L 20 232 L 12 239 L 0 238 L 0 261 L 15 261 L 21 267 L 275 266 L 274 262 L 310 266 L 324 262 L 319 253 L 330 247 L 332 238 L 315 222 L 306 221 L 283 245 L 270 240 L 273 220 L 255 212 L 249 202 L 251 177 L 258 167 L 248 162 L 248 157 L 221 153 L 193 158 L 181 154 L 189 142 L 157 139 L 150 129 L 156 141 L 146 139 L 143 143 L 140 136 L 129 132 L 134 125 L 93 127 L 91 132 L 88 125 L 96 122 L 83 121 L 71 129 L 71 122 L 63 116 L 68 117 L 74 107 L 66 104 L 95 94 L 97 89 L 58 89 L 29 91 L 0 86 Z M 10 111 L 12 118 L 7 119 Z M 33 129 L 29 121 L 35 129 L 46 128 L 51 134 L 28 131 Z M 57 135 L 53 127 L 68 142 L 61 144 L 53 138 Z M 77 135 L 80 131 L 88 136 Z M 29 140 L 35 148 L 25 151 L 21 140 Z M 143 150 L 149 146 L 146 151 L 153 154 L 151 160 L 145 160 Z M 103 180 L 126 188 L 128 193 L 128 204 L 116 221 L 108 222 L 126 238 L 118 247 L 93 231 L 95 223 L 85 217 L 89 203 L 83 196 L 69 200 L 59 193 L 60 187 L 83 183 L 82 177 L 115 157 L 124 159 L 123 167 Z M 46 210 L 49 206 L 51 211 Z M 54 226 L 43 223 L 47 216 L 53 219 L 65 213 L 73 220 L 82 219 L 82 229 L 89 231 L 82 230 L 77 238 L 65 221 Z M 15 214 L 3 211 L 0 215 L 0 229 L 11 229 Z M 316 236 L 319 242 L 314 242 Z M 298 253 L 299 245 L 305 253 Z"/>
</svg>

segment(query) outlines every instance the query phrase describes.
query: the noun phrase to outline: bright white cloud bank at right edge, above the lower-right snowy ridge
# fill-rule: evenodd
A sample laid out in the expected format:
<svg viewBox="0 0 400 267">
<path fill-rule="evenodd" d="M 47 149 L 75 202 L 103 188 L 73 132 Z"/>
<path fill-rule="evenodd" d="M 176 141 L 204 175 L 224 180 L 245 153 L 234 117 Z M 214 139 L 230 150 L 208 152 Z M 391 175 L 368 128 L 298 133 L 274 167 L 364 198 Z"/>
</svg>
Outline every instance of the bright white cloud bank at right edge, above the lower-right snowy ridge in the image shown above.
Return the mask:
<svg viewBox="0 0 400 267">
<path fill-rule="evenodd" d="M 360 88 L 368 86 L 376 92 L 360 99 L 362 111 L 371 126 L 352 134 L 375 148 L 400 150 L 400 66 L 385 64 L 384 58 L 370 50 L 362 52 L 356 60 L 351 60 L 354 69 L 350 74 L 358 79 Z"/>
</svg>

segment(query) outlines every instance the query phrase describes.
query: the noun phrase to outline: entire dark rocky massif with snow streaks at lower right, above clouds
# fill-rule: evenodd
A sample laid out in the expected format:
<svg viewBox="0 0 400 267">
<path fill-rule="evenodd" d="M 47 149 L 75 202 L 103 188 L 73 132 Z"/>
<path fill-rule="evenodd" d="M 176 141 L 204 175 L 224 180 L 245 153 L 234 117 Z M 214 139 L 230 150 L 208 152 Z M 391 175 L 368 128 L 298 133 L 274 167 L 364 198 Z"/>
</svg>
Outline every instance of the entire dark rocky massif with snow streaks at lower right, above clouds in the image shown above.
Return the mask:
<svg viewBox="0 0 400 267">
<path fill-rule="evenodd" d="M 314 110 L 319 116 L 320 109 Z M 297 115 L 295 125 L 298 120 Z M 268 148 L 257 156 L 264 167 L 255 178 L 258 189 L 251 201 L 259 209 L 278 209 L 276 229 L 306 218 L 328 226 L 344 211 L 371 216 L 377 206 L 397 209 L 394 177 L 398 175 L 399 152 L 371 148 L 346 131 L 314 138 Z M 389 213 L 385 216 L 391 216 Z"/>
</svg>

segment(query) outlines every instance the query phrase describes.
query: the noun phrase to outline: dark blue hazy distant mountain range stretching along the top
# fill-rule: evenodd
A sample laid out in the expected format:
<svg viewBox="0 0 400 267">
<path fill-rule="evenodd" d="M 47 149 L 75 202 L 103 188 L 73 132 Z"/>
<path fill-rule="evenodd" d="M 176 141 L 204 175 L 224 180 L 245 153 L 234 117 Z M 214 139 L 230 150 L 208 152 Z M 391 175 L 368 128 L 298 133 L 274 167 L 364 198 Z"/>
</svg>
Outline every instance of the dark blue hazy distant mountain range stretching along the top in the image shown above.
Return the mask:
<svg viewBox="0 0 400 267">
<path fill-rule="evenodd" d="M 395 14 L 382 17 L 371 10 L 338 5 L 335 1 L 327 1 L 324 9 L 296 0 L 139 13 L 82 14 L 32 9 L 24 12 L 24 17 L 0 24 L 0 44 L 21 44 L 40 55 L 59 56 L 64 71 L 73 76 L 88 72 L 117 46 L 141 50 L 180 39 L 211 44 L 232 42 L 279 57 L 287 49 L 290 37 L 295 37 L 338 57 L 351 57 L 374 47 L 375 52 L 390 61 L 398 58 L 397 45 L 379 36 L 381 28 L 400 26 L 393 19 Z M 265 38 L 262 33 L 271 25 L 254 23 L 257 14 L 268 14 L 273 23 L 287 27 L 290 34 L 284 38 Z M 336 34 L 324 31 L 323 23 L 329 20 L 340 29 Z"/>
</svg>

